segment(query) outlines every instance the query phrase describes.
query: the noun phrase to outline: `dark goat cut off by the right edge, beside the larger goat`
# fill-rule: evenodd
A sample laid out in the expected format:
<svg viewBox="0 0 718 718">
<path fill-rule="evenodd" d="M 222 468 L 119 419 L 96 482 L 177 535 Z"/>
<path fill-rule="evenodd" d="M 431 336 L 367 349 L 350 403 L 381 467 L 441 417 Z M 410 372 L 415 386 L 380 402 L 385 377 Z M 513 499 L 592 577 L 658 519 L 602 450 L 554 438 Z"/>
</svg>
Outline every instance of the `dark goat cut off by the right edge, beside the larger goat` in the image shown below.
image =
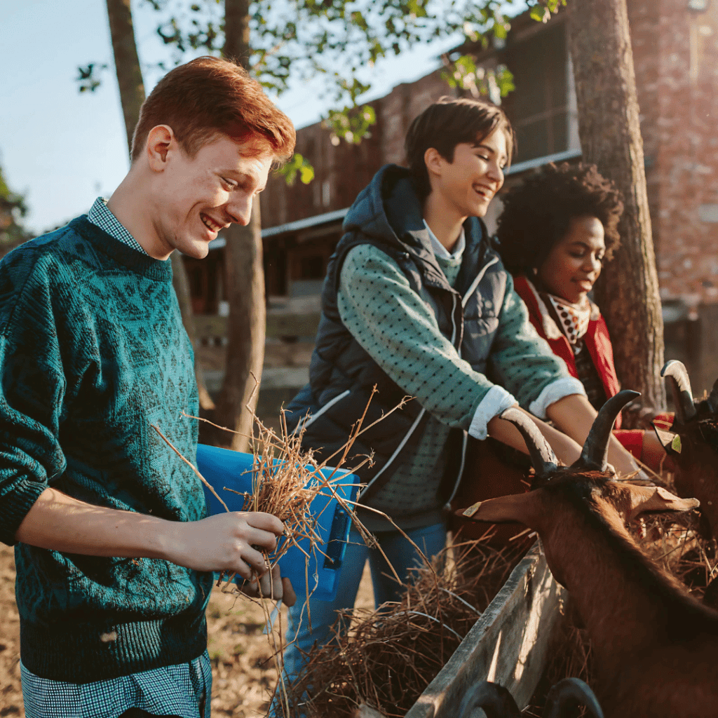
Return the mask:
<svg viewBox="0 0 718 718">
<path fill-rule="evenodd" d="M 661 376 L 676 409 L 671 432 L 656 431 L 676 467 L 673 485 L 679 496 L 694 496 L 701 502 L 701 513 L 713 538 L 718 538 L 718 381 L 708 398 L 696 404 L 681 362 L 666 363 Z"/>
</svg>

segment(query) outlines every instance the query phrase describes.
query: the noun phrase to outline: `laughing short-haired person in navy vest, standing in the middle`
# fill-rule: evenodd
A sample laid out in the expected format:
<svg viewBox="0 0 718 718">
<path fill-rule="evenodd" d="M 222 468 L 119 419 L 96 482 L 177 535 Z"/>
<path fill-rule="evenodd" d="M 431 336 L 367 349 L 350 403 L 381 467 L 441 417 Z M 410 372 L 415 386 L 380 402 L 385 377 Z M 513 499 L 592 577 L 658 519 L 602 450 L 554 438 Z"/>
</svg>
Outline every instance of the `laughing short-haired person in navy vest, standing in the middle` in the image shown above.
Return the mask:
<svg viewBox="0 0 718 718">
<path fill-rule="evenodd" d="M 324 457 L 346 441 L 375 385 L 365 424 L 415 397 L 358 437 L 353 454 L 374 457 L 360 471 L 367 484 L 360 503 L 390 516 L 427 556 L 444 547 L 442 509 L 461 475 L 467 434 L 526 451 L 498 418 L 518 403 L 570 463 L 596 415 L 582 384 L 528 322 L 481 220 L 512 149 L 508 119 L 487 102 L 444 98 L 414 119 L 409 167 L 379 170 L 345 217 L 322 292 L 310 381 L 288 407 L 288 423 L 301 422 L 304 445 Z M 635 470 L 617 442 L 610 461 Z M 406 579 L 417 558 L 409 541 L 376 513 L 358 513 Z M 311 599 L 311 630 L 302 597 L 290 611 L 287 635 L 300 628 L 286 651 L 288 673 L 314 640 L 330 640 L 335 611 L 353 607 L 367 558 L 377 605 L 400 595 L 378 549 L 353 531 L 336 600 Z"/>
</svg>

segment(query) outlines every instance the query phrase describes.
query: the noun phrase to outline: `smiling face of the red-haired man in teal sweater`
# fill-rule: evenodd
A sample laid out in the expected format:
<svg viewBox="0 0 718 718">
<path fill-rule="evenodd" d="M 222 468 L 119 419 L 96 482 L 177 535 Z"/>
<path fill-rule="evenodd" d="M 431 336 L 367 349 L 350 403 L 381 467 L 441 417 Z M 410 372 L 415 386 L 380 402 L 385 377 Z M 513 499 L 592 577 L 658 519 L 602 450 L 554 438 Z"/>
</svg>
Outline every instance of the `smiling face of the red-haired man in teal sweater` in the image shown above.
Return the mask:
<svg viewBox="0 0 718 718">
<path fill-rule="evenodd" d="M 264 189 L 273 157 L 255 144 L 219 136 L 194 157 L 175 144 L 167 159 L 159 180 L 157 236 L 167 251 L 202 258 L 219 230 L 249 222 L 253 197 Z"/>
</svg>

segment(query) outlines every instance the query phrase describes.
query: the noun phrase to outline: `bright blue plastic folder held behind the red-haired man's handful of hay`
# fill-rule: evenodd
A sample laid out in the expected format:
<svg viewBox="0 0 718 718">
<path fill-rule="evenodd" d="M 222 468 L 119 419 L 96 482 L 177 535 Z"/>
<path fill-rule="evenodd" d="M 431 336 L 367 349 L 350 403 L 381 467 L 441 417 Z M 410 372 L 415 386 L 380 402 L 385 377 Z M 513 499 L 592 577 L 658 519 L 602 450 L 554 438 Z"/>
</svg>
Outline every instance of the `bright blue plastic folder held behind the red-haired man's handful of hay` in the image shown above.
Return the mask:
<svg viewBox="0 0 718 718">
<path fill-rule="evenodd" d="M 252 454 L 210 447 L 205 444 L 200 444 L 197 447 L 197 468 L 222 497 L 230 511 L 241 511 L 244 497 L 232 491 L 225 491 L 224 488 L 251 492 L 252 464 Z M 359 490 L 359 477 L 342 469 L 326 468 L 322 470 L 322 474 L 327 478 L 332 475 L 332 472 L 335 472 L 332 485 L 334 485 L 336 493 L 349 501 L 355 501 Z M 336 481 L 337 475 L 341 476 L 339 482 Z M 337 483 L 341 485 L 337 485 Z M 225 513 L 225 508 L 213 493 L 206 486 L 203 488 L 209 515 Z M 297 546 L 292 546 L 279 559 L 281 575 L 291 579 L 292 587 L 300 598 L 307 594 L 307 577 L 309 578 L 309 593 L 313 591 L 315 598 L 332 601 L 337 594 L 339 574 L 347 548 L 350 517 L 328 490 L 326 493 L 327 495 L 317 494 L 312 500 L 311 507 L 312 514 L 318 517 L 315 530 L 322 538 L 320 548 L 324 553 L 313 551 L 309 554 L 306 574 L 304 567 L 307 557 Z M 309 551 L 308 538 L 300 541 L 299 544 L 304 550 Z"/>
</svg>

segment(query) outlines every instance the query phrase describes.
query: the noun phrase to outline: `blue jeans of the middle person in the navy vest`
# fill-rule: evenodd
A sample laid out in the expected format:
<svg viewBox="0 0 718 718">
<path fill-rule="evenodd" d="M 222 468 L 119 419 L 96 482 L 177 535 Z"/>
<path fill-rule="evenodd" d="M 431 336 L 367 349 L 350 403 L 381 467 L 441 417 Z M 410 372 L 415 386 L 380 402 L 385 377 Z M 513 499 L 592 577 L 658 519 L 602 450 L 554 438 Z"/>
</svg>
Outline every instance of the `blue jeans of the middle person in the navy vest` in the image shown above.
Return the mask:
<svg viewBox="0 0 718 718">
<path fill-rule="evenodd" d="M 406 534 L 411 536 L 411 540 L 419 546 L 428 559 L 432 559 L 444 548 L 447 529 L 444 523 L 436 523 L 433 526 L 414 528 L 411 531 L 406 531 Z M 416 549 L 398 531 L 380 531 L 375 536 L 387 558 L 391 561 L 391 565 L 396 569 L 396 573 L 406 583 L 407 579 L 411 579 L 409 568 L 421 566 L 422 563 Z M 306 596 L 298 596 L 297 603 L 289 609 L 289 627 L 286 630 L 286 643 L 289 644 L 294 641 L 284 651 L 284 671 L 289 681 L 302 669 L 304 663 L 302 651 L 308 653 L 315 642 L 318 645 L 325 645 L 333 638 L 334 634 L 330 628 L 337 620 L 337 610 L 354 607 L 364 571 L 364 564 L 367 559 L 369 559 L 371 569 L 375 604 L 379 606 L 386 601 L 401 600 L 404 587 L 393 578 L 391 569 L 386 565 L 386 561 L 379 550 L 376 548 L 369 549 L 354 528 L 350 531 L 348 540 L 349 545 L 342 562 L 339 588 L 335 599 L 333 601 L 320 601 L 314 597 L 309 598 L 309 608 L 312 612 L 312 630 L 309 630 L 307 610 L 304 607 L 307 602 Z M 299 626 L 298 633 L 297 626 Z M 297 640 L 294 640 L 295 635 Z"/>
</svg>

